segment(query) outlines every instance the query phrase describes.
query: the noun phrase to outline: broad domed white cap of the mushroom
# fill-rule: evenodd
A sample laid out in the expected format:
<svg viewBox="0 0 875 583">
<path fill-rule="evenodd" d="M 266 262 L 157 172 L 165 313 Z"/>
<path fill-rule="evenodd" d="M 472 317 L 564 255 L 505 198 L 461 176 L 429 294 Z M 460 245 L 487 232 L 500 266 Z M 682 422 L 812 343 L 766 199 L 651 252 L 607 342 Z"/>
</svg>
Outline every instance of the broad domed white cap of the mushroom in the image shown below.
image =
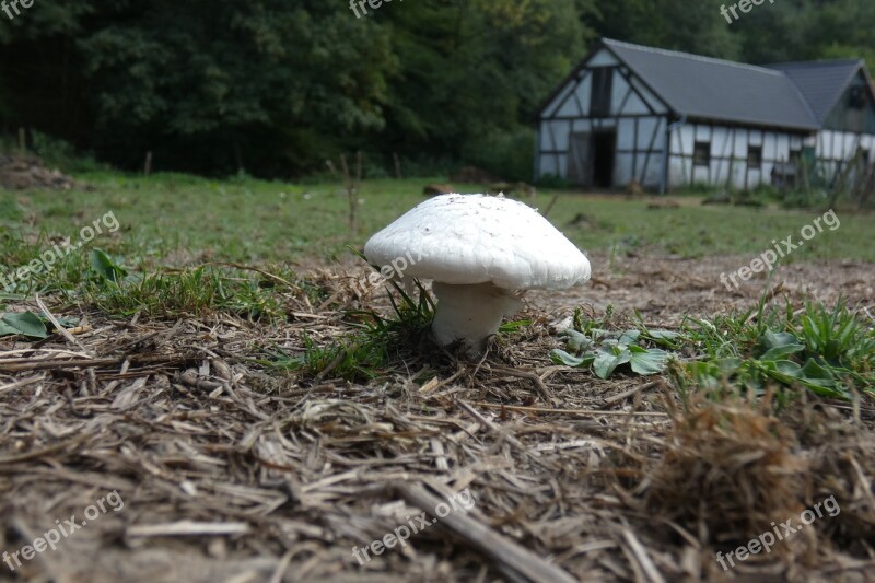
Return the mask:
<svg viewBox="0 0 875 583">
<path fill-rule="evenodd" d="M 404 279 L 508 290 L 563 289 L 590 279 L 590 261 L 535 209 L 487 195 L 443 195 L 409 210 L 365 244 L 372 264 L 408 264 Z M 396 261 L 396 264 L 393 264 Z"/>
</svg>

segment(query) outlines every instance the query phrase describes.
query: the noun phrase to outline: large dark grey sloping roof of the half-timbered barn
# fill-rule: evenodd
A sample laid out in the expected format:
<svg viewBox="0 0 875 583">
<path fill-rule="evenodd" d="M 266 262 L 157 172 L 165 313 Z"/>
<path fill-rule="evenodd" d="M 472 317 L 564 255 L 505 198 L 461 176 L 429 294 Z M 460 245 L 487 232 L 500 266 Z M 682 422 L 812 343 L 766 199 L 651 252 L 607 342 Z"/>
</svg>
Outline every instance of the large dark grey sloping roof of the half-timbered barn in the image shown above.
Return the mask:
<svg viewBox="0 0 875 583">
<path fill-rule="evenodd" d="M 689 117 L 800 130 L 819 124 L 782 72 L 604 39 L 673 110 Z"/>
</svg>

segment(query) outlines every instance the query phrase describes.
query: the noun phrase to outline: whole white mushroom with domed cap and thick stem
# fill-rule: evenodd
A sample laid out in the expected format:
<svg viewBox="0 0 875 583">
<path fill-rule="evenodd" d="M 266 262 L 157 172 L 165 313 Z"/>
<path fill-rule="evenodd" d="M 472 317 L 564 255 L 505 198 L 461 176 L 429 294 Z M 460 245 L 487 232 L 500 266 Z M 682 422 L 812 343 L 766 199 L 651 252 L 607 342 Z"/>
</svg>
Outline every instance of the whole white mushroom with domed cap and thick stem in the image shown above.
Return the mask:
<svg viewBox="0 0 875 583">
<path fill-rule="evenodd" d="M 590 279 L 590 261 L 573 243 L 536 210 L 503 196 L 427 200 L 372 236 L 364 255 L 401 279 L 433 280 L 434 339 L 460 341 L 470 355 L 481 354 L 501 319 L 518 312 L 515 292 Z"/>
</svg>

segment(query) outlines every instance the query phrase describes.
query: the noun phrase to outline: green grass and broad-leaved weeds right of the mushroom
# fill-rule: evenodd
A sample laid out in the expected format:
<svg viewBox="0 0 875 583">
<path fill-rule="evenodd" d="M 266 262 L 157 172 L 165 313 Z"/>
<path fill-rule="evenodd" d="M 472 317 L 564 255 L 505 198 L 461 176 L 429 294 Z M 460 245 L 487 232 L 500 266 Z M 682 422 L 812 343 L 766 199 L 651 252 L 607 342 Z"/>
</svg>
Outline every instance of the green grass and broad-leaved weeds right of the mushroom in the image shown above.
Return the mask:
<svg viewBox="0 0 875 583">
<path fill-rule="evenodd" d="M 635 314 L 627 323 L 584 318 L 560 334 L 567 350 L 552 350 L 556 364 L 592 370 L 599 378 L 616 372 L 656 374 L 668 370 L 682 390 L 730 388 L 765 395 L 781 387 L 777 403 L 808 389 L 851 399 L 853 392 L 875 397 L 875 326 L 863 306 L 839 299 L 833 306 L 809 301 L 758 306 L 713 318 L 687 316 L 679 331 L 649 329 Z M 622 369 L 618 369 L 621 365 Z"/>
</svg>

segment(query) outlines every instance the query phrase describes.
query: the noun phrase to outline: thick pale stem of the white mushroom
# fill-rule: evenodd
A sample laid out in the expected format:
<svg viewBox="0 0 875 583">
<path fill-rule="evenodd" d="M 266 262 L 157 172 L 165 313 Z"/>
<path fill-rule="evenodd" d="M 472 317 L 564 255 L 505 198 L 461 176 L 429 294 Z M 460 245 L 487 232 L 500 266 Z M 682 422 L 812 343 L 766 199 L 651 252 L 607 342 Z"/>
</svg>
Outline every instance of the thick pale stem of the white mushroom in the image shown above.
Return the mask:
<svg viewBox="0 0 875 583">
<path fill-rule="evenodd" d="M 482 354 L 501 319 L 516 314 L 523 305 L 518 298 L 492 283 L 451 285 L 435 281 L 432 290 L 438 296 L 434 339 L 441 346 L 462 341 L 470 355 Z"/>
</svg>

